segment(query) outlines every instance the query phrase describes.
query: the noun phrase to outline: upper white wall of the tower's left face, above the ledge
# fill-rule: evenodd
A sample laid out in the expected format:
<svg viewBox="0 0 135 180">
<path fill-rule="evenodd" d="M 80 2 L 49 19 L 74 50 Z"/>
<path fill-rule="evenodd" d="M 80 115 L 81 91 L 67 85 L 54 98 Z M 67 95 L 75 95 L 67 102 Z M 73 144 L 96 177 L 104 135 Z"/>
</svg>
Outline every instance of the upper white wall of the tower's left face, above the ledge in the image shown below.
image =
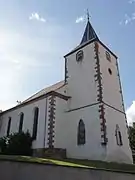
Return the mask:
<svg viewBox="0 0 135 180">
<path fill-rule="evenodd" d="M 67 59 L 68 86 L 67 94 L 72 97 L 70 109 L 82 107 L 97 102 L 95 74 L 94 43 L 82 48 L 84 59 L 76 61 L 76 53 Z"/>
</svg>

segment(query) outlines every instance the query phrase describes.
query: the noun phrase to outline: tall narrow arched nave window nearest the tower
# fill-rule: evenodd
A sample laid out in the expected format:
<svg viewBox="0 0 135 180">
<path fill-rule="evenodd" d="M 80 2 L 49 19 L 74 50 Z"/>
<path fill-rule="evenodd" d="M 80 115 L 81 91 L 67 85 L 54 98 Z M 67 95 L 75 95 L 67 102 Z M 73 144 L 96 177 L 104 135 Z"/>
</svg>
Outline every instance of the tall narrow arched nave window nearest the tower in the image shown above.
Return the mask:
<svg viewBox="0 0 135 180">
<path fill-rule="evenodd" d="M 32 133 L 32 138 L 33 138 L 33 140 L 35 140 L 36 137 L 37 137 L 38 114 L 39 114 L 39 108 L 36 107 L 36 108 L 34 109 L 34 122 L 33 122 L 33 133 Z"/>
</svg>

